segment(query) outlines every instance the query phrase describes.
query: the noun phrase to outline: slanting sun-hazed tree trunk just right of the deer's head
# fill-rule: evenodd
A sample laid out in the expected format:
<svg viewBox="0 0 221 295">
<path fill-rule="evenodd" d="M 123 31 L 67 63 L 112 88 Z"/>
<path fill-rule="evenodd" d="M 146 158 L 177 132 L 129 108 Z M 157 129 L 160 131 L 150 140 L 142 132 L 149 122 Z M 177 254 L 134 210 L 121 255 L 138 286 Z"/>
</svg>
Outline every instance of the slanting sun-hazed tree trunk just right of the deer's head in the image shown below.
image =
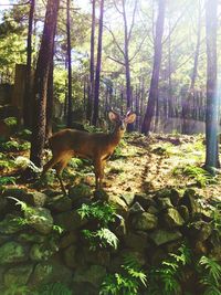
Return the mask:
<svg viewBox="0 0 221 295">
<path fill-rule="evenodd" d="M 158 85 L 159 85 L 159 71 L 161 64 L 162 54 L 162 33 L 165 24 L 165 8 L 166 0 L 158 0 L 158 18 L 156 22 L 156 36 L 155 36 L 155 55 L 154 55 L 154 67 L 151 74 L 150 89 L 146 114 L 144 117 L 141 133 L 148 134 L 150 130 L 150 124 L 155 112 L 155 105 L 158 98 Z"/>
</svg>

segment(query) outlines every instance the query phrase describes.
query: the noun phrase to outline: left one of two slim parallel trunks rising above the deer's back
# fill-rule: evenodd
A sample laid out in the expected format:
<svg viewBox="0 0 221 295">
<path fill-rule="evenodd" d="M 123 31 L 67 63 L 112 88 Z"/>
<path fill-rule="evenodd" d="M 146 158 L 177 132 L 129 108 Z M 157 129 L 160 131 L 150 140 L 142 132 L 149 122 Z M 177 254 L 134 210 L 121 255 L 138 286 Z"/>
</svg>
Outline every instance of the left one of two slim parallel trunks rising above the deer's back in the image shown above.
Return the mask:
<svg viewBox="0 0 221 295">
<path fill-rule="evenodd" d="M 90 95 L 87 99 L 86 118 L 92 120 L 92 105 L 94 102 L 94 40 L 95 40 L 95 0 L 92 0 L 91 59 L 90 59 Z"/>
</svg>

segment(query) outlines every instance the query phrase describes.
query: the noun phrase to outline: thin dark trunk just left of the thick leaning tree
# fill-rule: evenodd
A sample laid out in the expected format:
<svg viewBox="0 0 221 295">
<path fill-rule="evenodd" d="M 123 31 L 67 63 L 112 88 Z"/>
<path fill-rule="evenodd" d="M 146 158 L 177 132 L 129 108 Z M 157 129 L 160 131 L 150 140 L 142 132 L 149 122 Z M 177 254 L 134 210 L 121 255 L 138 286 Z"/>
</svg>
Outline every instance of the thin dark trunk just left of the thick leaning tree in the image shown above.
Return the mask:
<svg viewBox="0 0 221 295">
<path fill-rule="evenodd" d="M 23 101 L 23 125 L 24 127 L 31 127 L 31 107 L 32 104 L 32 83 L 31 83 L 31 65 L 32 65 L 32 31 L 33 31 L 33 15 L 34 15 L 35 0 L 30 1 L 30 11 L 29 11 L 29 29 L 28 29 L 28 39 L 27 39 L 27 81 L 25 81 L 25 91 L 24 91 L 24 101 Z"/>
</svg>

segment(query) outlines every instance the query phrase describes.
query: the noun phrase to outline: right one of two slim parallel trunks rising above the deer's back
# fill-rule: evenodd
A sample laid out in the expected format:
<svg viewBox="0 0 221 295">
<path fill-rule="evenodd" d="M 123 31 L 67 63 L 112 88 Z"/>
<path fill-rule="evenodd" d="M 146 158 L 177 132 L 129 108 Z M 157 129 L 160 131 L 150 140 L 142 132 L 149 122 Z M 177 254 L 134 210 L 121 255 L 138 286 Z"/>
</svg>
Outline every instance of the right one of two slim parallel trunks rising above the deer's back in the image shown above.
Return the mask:
<svg viewBox="0 0 221 295">
<path fill-rule="evenodd" d="M 94 126 L 97 125 L 98 106 L 99 106 L 99 78 L 101 78 L 101 69 L 102 69 L 103 18 L 104 18 L 104 0 L 101 0 L 97 62 L 96 62 L 96 75 L 95 75 L 95 85 L 94 85 L 94 113 L 93 113 L 93 120 L 92 120 L 92 124 Z"/>
</svg>

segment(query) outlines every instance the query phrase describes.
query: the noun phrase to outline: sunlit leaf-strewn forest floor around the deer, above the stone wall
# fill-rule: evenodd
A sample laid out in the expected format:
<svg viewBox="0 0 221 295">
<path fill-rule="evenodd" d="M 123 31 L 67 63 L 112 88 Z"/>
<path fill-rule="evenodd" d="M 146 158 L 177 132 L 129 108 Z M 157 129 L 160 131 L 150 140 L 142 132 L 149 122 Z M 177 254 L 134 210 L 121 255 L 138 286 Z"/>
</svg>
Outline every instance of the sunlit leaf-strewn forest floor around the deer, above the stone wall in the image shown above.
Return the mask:
<svg viewBox="0 0 221 295">
<path fill-rule="evenodd" d="M 18 143 L 18 138 L 13 138 Z M 36 189 L 25 179 L 20 180 L 21 162 L 29 157 L 27 141 L 19 140 L 18 147 L 10 149 L 4 145 L 0 152 L 0 173 L 4 176 L 3 183 L 19 186 L 29 190 Z M 14 146 L 14 145 L 13 145 Z M 151 135 L 145 137 L 139 134 L 127 135 L 116 148 L 115 154 L 105 167 L 104 189 L 108 194 L 151 192 L 162 188 L 186 189 L 194 188 L 206 198 L 221 200 L 221 175 L 212 177 L 201 167 L 204 162 L 206 147 L 202 135 Z M 50 151 L 45 152 L 45 160 Z M 8 162 L 8 164 L 7 164 Z M 19 165 L 18 165 L 19 164 Z M 12 181 L 10 179 L 12 177 Z M 84 182 L 94 188 L 93 167 L 87 160 L 72 159 L 63 172 L 66 188 Z M 12 183 L 11 183 L 12 182 Z M 46 188 L 60 191 L 60 185 L 53 169 L 48 173 L 38 190 Z"/>
</svg>

